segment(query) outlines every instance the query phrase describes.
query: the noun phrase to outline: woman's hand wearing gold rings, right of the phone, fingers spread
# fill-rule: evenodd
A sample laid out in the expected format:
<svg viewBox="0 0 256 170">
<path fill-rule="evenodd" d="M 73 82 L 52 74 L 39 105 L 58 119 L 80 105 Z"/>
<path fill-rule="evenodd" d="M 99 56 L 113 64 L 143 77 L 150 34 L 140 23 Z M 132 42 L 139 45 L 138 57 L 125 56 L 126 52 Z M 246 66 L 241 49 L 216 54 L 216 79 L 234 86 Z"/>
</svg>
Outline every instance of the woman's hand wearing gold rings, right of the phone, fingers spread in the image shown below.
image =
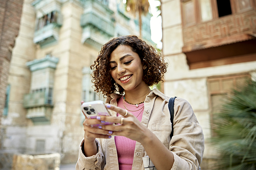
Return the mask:
<svg viewBox="0 0 256 170">
<path fill-rule="evenodd" d="M 126 114 L 126 110 L 120 107 L 107 104 L 106 107 L 111 109 L 120 115 L 124 116 Z M 123 124 L 121 123 L 122 117 L 112 117 L 112 116 L 100 116 L 101 121 L 108 121 L 112 123 L 116 123 L 117 125 L 102 125 L 102 129 L 113 131 L 112 135 L 116 136 L 125 136 L 129 139 L 136 140 L 140 143 L 148 137 L 148 133 L 151 133 L 150 130 L 146 128 L 135 116 L 133 116 L 130 112 L 124 117 Z"/>
</svg>

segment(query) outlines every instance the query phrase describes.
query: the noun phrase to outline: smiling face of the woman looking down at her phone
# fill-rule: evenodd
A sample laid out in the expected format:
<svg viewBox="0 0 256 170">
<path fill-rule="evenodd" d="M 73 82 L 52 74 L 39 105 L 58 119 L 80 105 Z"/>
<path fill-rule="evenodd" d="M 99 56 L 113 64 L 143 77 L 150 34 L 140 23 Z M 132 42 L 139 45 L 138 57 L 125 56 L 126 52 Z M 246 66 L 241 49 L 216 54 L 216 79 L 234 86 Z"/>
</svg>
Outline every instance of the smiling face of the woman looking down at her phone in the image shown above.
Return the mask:
<svg viewBox="0 0 256 170">
<path fill-rule="evenodd" d="M 127 45 L 119 45 L 109 58 L 111 76 L 125 91 L 148 87 L 143 78 L 140 57 Z"/>
</svg>

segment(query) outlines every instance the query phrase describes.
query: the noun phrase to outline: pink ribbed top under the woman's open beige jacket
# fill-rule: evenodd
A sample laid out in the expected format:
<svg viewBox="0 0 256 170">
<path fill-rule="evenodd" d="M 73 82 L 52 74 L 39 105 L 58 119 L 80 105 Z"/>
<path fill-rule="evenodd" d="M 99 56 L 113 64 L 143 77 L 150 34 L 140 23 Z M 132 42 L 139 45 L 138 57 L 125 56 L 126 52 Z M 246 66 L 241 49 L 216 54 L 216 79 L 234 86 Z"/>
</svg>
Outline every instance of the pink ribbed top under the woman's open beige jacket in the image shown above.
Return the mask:
<svg viewBox="0 0 256 170">
<path fill-rule="evenodd" d="M 136 105 L 129 104 L 124 101 L 125 107 L 126 107 L 125 108 L 123 104 L 123 100 L 124 98 L 122 97 L 117 101 L 118 107 L 121 107 L 123 109 L 127 108 L 131 111 L 136 111 L 144 107 L 144 103 L 141 103 L 139 104 L 139 107 L 136 107 Z M 131 112 L 131 111 L 128 111 L 128 112 L 132 113 L 141 122 L 144 108 L 136 112 Z M 117 113 L 117 116 L 120 116 L 120 115 Z M 131 140 L 124 136 L 115 136 L 115 144 L 116 144 L 116 150 L 117 150 L 117 156 L 118 156 L 119 170 L 131 170 L 136 141 Z"/>
</svg>

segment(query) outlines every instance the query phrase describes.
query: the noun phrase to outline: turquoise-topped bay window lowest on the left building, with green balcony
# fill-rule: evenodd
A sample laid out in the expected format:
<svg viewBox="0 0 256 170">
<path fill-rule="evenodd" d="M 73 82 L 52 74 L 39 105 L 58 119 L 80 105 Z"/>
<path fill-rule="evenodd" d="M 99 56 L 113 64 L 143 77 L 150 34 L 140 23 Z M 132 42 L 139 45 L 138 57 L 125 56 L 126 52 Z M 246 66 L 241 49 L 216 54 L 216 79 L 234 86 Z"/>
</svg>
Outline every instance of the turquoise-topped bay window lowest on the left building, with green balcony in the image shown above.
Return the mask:
<svg viewBox="0 0 256 170">
<path fill-rule="evenodd" d="M 24 95 L 23 106 L 27 109 L 26 118 L 34 123 L 51 121 L 53 111 L 53 87 L 55 68 L 59 59 L 51 55 L 27 62 L 31 71 L 30 93 Z M 39 150 L 42 146 L 39 141 Z"/>
</svg>

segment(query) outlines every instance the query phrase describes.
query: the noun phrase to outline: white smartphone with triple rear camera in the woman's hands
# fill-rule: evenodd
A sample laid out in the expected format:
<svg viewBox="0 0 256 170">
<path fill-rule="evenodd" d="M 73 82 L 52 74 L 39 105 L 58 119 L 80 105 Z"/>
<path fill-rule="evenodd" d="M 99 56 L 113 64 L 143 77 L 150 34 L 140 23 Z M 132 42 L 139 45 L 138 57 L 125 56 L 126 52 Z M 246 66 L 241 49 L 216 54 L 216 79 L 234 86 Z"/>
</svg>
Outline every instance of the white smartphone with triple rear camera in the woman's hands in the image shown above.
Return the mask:
<svg viewBox="0 0 256 170">
<path fill-rule="evenodd" d="M 108 110 L 105 107 L 105 104 L 101 100 L 84 102 L 81 105 L 82 111 L 88 119 L 96 119 L 97 116 L 110 116 Z M 105 122 L 104 125 L 114 124 L 111 122 Z M 97 127 L 99 124 L 94 124 L 93 126 Z"/>
</svg>

